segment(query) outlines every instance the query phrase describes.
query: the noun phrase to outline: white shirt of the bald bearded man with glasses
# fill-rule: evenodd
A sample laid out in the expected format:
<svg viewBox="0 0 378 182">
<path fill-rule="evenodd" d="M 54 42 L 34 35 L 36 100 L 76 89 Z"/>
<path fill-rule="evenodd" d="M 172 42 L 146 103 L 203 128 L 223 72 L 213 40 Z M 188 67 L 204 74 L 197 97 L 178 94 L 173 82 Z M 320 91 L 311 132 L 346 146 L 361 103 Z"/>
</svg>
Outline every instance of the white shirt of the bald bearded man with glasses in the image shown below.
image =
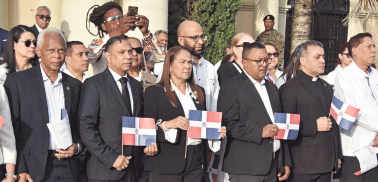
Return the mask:
<svg viewBox="0 0 378 182">
<path fill-rule="evenodd" d="M 193 61 L 193 74 L 195 83 L 205 90 L 206 110 L 217 111 L 220 87 L 214 65 L 201 57 L 198 60 L 198 65 Z"/>
</svg>

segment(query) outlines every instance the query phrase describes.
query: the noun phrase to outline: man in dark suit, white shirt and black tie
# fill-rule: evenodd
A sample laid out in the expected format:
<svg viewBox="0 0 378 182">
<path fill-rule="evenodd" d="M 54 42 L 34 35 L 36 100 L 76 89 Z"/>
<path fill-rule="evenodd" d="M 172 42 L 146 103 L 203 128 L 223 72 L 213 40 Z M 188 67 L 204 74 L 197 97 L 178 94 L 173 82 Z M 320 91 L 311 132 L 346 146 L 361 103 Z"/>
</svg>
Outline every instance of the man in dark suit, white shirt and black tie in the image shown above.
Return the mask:
<svg viewBox="0 0 378 182">
<path fill-rule="evenodd" d="M 124 36 L 110 38 L 105 46 L 108 68 L 83 84 L 80 134 L 92 154 L 90 182 L 137 182 L 141 177 L 142 148 L 122 145 L 122 117 L 140 117 L 143 102 L 142 83 L 127 74 L 132 51 Z"/>
</svg>

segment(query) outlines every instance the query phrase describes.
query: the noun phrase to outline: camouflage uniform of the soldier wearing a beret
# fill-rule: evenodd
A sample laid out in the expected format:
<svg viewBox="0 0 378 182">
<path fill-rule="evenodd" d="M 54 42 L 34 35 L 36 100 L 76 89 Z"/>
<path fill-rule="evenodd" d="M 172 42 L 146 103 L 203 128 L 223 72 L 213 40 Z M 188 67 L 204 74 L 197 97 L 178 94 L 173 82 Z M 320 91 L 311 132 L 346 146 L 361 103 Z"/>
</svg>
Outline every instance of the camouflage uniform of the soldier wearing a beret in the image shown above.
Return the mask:
<svg viewBox="0 0 378 182">
<path fill-rule="evenodd" d="M 281 67 L 281 65 L 283 65 L 283 62 L 284 62 L 284 46 L 285 46 L 284 35 L 282 35 L 276 29 L 273 29 L 268 34 L 264 34 L 264 32 L 265 31 L 263 31 L 257 36 L 256 42 L 259 42 L 259 43 L 270 42 L 276 45 L 280 53 L 280 56 L 278 58 L 278 67 L 281 69 L 284 68 L 284 66 Z"/>
</svg>

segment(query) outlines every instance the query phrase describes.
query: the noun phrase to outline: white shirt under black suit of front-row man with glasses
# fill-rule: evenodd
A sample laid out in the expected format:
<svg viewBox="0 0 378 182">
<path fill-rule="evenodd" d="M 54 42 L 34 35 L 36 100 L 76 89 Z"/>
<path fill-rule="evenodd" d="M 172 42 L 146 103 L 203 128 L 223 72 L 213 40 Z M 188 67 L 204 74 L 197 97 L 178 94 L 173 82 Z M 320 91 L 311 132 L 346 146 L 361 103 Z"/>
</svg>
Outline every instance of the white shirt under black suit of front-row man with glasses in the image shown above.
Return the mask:
<svg viewBox="0 0 378 182">
<path fill-rule="evenodd" d="M 243 69 L 243 71 L 244 71 L 244 73 L 246 73 L 246 75 L 248 76 L 248 78 L 252 81 L 254 87 L 256 88 L 258 94 L 261 97 L 262 102 L 264 103 L 264 106 L 265 106 L 266 111 L 268 112 L 269 118 L 270 118 L 270 120 L 273 123 L 274 122 L 274 114 L 273 114 L 272 105 L 270 104 L 270 99 L 269 99 L 268 91 L 266 91 L 264 78 L 262 78 L 261 81 L 260 81 L 260 83 L 258 83 L 244 69 Z M 274 148 L 274 150 L 275 150 L 274 152 L 278 151 L 281 148 L 281 142 L 280 142 L 280 140 L 276 140 L 275 145 L 276 146 Z"/>
</svg>

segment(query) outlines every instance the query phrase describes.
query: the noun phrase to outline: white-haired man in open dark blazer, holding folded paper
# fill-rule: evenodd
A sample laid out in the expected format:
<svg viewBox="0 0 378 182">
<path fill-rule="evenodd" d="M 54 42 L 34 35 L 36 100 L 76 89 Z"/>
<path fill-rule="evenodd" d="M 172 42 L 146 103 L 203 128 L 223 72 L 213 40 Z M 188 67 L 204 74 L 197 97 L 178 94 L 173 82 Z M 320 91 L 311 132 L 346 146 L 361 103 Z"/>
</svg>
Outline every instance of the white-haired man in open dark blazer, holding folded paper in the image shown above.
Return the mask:
<svg viewBox="0 0 378 182">
<path fill-rule="evenodd" d="M 4 83 L 16 136 L 16 173 L 19 182 L 77 182 L 81 83 L 59 70 L 66 47 L 62 31 L 49 28 L 40 37 L 35 47 L 40 64 L 8 75 Z M 64 151 L 46 125 L 61 121 L 61 109 L 67 110 L 73 141 Z"/>
</svg>

